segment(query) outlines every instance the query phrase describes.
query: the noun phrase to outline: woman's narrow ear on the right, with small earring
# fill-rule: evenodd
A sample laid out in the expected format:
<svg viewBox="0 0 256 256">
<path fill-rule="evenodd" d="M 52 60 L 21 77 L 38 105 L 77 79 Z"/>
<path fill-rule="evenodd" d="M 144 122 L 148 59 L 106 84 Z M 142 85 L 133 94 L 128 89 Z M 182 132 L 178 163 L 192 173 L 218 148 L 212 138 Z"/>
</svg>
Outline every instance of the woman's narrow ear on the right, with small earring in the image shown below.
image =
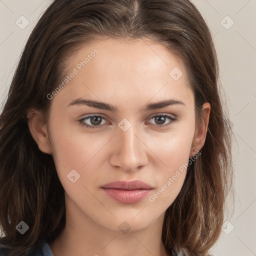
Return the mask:
<svg viewBox="0 0 256 256">
<path fill-rule="evenodd" d="M 202 105 L 201 111 L 203 112 L 203 120 L 201 123 L 198 124 L 198 127 L 195 127 L 193 142 L 189 154 L 190 157 L 192 157 L 197 151 L 199 151 L 205 142 L 207 127 L 209 123 L 210 104 L 208 102 L 205 102 Z M 196 149 L 196 151 L 194 149 Z"/>
</svg>

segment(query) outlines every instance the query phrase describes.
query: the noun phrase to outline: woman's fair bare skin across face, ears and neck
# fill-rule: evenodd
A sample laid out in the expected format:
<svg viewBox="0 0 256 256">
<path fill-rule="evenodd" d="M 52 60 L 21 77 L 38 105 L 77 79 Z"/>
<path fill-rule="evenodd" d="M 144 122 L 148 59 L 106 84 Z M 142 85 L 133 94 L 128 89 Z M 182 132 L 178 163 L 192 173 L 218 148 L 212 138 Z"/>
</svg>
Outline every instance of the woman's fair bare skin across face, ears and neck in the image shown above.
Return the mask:
<svg viewBox="0 0 256 256">
<path fill-rule="evenodd" d="M 145 38 L 84 44 L 68 58 L 67 74 L 94 48 L 99 50 L 95 57 L 51 99 L 47 123 L 42 124 L 40 111 L 27 112 L 30 132 L 40 150 L 52 154 L 65 190 L 66 226 L 50 248 L 54 256 L 168 255 L 161 241 L 164 212 L 178 195 L 186 169 L 153 202 L 149 196 L 187 163 L 194 148 L 203 146 L 210 105 L 203 104 L 204 122 L 196 128 L 194 97 L 182 61 Z M 169 75 L 174 67 L 183 72 L 178 80 Z M 77 98 L 106 102 L 118 110 L 68 106 Z M 143 110 L 148 103 L 171 98 L 184 105 Z M 104 117 L 96 124 L 101 126 L 79 124 L 91 114 Z M 160 114 L 177 121 L 157 122 L 154 116 Z M 118 126 L 123 118 L 131 124 L 126 131 Z M 95 123 L 93 118 L 83 122 Z M 164 124 L 169 125 L 161 128 Z M 72 169 L 80 175 L 74 183 L 67 178 Z M 136 203 L 117 202 L 101 189 L 108 182 L 134 179 L 153 187 Z M 118 228 L 123 221 L 130 227 L 126 233 Z"/>
</svg>

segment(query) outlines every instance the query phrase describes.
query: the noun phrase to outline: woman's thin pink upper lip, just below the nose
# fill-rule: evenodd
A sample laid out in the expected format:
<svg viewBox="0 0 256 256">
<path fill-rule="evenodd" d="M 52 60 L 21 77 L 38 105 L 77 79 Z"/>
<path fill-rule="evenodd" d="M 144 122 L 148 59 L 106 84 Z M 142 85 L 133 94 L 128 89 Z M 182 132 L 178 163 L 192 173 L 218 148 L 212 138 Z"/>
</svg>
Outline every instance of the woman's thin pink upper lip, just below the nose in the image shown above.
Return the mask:
<svg viewBox="0 0 256 256">
<path fill-rule="evenodd" d="M 118 180 L 102 185 L 103 188 L 115 188 L 115 189 L 124 189 L 124 190 L 134 190 L 134 189 L 151 189 L 152 186 L 144 183 L 141 180 Z"/>
</svg>

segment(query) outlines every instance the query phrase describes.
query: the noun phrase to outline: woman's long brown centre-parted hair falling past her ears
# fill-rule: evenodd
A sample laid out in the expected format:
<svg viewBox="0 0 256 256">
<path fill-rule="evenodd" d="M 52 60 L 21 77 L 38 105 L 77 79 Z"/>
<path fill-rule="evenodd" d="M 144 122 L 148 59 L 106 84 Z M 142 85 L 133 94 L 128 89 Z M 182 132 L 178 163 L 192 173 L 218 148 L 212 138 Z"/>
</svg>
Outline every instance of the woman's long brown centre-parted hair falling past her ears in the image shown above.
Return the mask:
<svg viewBox="0 0 256 256">
<path fill-rule="evenodd" d="M 40 241 L 53 241 L 65 227 L 64 189 L 53 155 L 40 151 L 28 128 L 27 110 L 47 122 L 51 93 L 66 60 L 79 45 L 97 38 L 148 38 L 164 45 L 185 66 L 195 99 L 211 106 L 201 155 L 189 164 L 183 186 L 167 208 L 162 241 L 170 252 L 209 255 L 223 223 L 231 187 L 231 135 L 220 99 L 218 62 L 209 28 L 189 0 L 53 1 L 32 30 L 0 114 L 0 244 L 8 255 L 26 255 Z M 29 231 L 20 234 L 23 220 Z"/>
</svg>

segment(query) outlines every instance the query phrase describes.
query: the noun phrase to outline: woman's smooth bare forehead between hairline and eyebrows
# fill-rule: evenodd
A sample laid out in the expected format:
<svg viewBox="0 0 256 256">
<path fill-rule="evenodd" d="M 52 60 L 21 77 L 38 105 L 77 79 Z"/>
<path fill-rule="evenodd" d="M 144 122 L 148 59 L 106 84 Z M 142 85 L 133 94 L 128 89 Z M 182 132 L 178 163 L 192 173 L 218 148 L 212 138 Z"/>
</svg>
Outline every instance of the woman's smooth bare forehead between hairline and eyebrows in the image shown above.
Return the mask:
<svg viewBox="0 0 256 256">
<path fill-rule="evenodd" d="M 102 101 L 117 96 L 140 101 L 176 97 L 182 101 L 190 98 L 193 103 L 182 61 L 163 45 L 145 38 L 84 43 L 66 64 L 67 75 L 75 75 L 61 91 L 65 100 L 83 96 Z"/>
</svg>

